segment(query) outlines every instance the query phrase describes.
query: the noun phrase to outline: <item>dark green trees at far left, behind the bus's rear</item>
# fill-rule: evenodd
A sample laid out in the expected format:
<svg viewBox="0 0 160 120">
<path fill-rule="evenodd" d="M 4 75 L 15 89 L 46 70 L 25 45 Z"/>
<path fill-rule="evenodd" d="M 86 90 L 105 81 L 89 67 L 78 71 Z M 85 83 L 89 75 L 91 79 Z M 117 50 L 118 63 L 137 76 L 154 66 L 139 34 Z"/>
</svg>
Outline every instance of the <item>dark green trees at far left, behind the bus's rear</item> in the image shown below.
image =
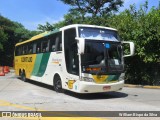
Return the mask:
<svg viewBox="0 0 160 120">
<path fill-rule="evenodd" d="M 29 31 L 22 24 L 0 16 L 0 65 L 12 66 L 15 44 L 35 34 L 36 31 Z"/>
</svg>

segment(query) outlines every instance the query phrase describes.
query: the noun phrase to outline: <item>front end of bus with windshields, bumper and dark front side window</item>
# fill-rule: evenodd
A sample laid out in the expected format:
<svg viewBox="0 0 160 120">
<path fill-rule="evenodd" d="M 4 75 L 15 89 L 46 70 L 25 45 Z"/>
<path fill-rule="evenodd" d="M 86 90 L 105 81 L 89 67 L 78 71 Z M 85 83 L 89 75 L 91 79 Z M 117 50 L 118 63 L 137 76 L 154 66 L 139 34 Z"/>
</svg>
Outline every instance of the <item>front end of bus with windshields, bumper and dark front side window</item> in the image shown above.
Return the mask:
<svg viewBox="0 0 160 120">
<path fill-rule="evenodd" d="M 84 53 L 78 53 L 78 41 L 84 38 Z M 122 45 L 117 31 L 77 27 L 64 31 L 64 53 L 69 90 L 79 93 L 117 91 L 123 87 Z M 76 77 L 77 76 L 77 77 Z"/>
</svg>

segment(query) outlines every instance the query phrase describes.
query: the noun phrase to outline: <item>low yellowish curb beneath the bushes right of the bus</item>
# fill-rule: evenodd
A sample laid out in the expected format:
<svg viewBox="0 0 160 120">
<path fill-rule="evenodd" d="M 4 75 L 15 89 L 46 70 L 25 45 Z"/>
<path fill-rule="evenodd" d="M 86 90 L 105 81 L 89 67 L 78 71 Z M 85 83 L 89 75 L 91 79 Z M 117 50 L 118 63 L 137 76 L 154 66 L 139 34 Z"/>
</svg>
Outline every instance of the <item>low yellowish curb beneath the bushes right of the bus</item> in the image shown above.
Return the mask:
<svg viewBox="0 0 160 120">
<path fill-rule="evenodd" d="M 124 84 L 124 87 L 129 87 L 129 88 L 160 89 L 160 86 L 149 86 L 149 85 L 132 85 L 132 84 Z"/>
</svg>

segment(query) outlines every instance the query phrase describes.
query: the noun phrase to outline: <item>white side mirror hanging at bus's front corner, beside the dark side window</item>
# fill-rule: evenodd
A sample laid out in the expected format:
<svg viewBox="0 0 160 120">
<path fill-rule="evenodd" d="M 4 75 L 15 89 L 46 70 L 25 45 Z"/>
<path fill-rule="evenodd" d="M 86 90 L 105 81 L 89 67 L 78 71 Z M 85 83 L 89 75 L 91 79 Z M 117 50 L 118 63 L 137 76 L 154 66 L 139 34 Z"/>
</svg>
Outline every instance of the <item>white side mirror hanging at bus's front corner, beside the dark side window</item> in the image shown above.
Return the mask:
<svg viewBox="0 0 160 120">
<path fill-rule="evenodd" d="M 75 38 L 77 40 L 78 54 L 84 54 L 85 50 L 85 39 L 84 38 Z"/>
</svg>

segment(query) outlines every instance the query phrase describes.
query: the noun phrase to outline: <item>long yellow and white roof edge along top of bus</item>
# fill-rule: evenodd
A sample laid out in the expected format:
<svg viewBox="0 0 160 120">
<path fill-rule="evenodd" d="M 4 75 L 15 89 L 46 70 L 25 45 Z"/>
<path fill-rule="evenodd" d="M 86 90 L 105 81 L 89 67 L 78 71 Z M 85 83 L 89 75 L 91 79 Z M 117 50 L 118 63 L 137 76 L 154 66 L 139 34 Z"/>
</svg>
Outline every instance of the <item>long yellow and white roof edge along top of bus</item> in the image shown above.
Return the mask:
<svg viewBox="0 0 160 120">
<path fill-rule="evenodd" d="M 38 35 L 36 35 L 36 36 L 33 36 L 33 37 L 32 37 L 31 39 L 29 39 L 29 40 L 26 40 L 26 41 L 17 43 L 16 46 L 21 45 L 21 44 L 24 44 L 24 43 L 27 43 L 27 42 L 31 42 L 31 41 L 37 40 L 38 38 L 42 38 L 42 37 L 51 35 L 51 34 L 53 34 L 53 33 L 57 33 L 57 32 L 59 32 L 59 31 L 62 31 L 62 30 L 66 30 L 66 29 L 69 29 L 69 28 L 73 28 L 73 27 L 91 27 L 91 28 L 102 28 L 102 29 L 108 29 L 108 30 L 117 31 L 117 29 L 110 28 L 110 27 L 104 27 L 104 26 L 87 25 L 87 24 L 72 24 L 72 25 L 68 25 L 68 26 L 62 27 L 62 28 L 60 28 L 60 29 L 56 29 L 56 30 L 54 30 L 54 31 L 46 31 L 46 32 L 44 32 L 44 33 L 38 34 Z"/>
</svg>

